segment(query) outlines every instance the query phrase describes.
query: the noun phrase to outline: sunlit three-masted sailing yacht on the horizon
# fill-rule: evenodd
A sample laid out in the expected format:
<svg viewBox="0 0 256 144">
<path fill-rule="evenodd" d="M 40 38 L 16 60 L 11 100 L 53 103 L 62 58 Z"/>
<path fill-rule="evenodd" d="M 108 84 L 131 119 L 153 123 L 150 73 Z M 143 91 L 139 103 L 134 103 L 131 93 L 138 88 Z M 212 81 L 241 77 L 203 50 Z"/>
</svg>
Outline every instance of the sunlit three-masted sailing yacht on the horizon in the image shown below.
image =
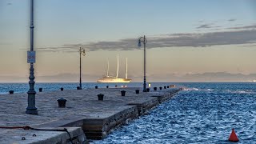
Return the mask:
<svg viewBox="0 0 256 144">
<path fill-rule="evenodd" d="M 119 66 L 119 63 L 118 63 Z M 131 79 L 127 78 L 127 70 L 128 70 L 128 66 L 127 66 L 127 58 L 126 58 L 126 78 L 118 78 L 118 66 L 117 66 L 117 75 L 114 76 L 110 76 L 109 75 L 109 61 L 107 61 L 107 71 L 106 71 L 106 76 L 103 76 L 102 78 L 98 79 L 97 82 L 130 82 Z"/>
</svg>

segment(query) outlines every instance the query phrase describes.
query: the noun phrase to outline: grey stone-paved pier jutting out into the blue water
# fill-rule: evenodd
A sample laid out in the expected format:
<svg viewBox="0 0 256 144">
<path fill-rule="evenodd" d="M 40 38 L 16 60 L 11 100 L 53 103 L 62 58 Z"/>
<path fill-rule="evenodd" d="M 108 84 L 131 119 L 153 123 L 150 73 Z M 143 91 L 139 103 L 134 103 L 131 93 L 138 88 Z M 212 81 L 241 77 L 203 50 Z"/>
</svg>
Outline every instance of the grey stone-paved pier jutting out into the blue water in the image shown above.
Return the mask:
<svg viewBox="0 0 256 144">
<path fill-rule="evenodd" d="M 139 94 L 135 90 L 140 90 Z M 126 90 L 126 96 L 121 91 Z M 150 90 L 141 88 L 98 88 L 56 90 L 36 94 L 38 115 L 25 114 L 27 94 L 0 94 L 0 126 L 30 126 L 46 130 L 0 129 L 1 143 L 86 143 L 102 139 L 117 126 L 145 114 L 177 94 L 179 88 Z M 104 94 L 98 101 L 98 94 Z M 65 98 L 66 107 L 58 107 Z M 52 130 L 66 131 L 51 131 Z M 33 136 L 33 135 L 36 136 Z M 22 138 L 26 138 L 22 140 Z"/>
</svg>

